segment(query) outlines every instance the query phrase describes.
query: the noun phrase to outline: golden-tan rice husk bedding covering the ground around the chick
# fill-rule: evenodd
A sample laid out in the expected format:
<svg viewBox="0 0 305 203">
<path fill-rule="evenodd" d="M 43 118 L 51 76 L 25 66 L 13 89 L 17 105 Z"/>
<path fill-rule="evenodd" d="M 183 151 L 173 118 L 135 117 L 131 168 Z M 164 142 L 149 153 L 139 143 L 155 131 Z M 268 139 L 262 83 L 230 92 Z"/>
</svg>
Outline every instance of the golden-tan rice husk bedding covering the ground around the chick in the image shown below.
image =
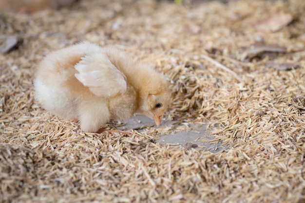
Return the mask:
<svg viewBox="0 0 305 203">
<path fill-rule="evenodd" d="M 79 0 L 1 13 L 0 35 L 18 44 L 0 54 L 0 202 L 305 202 L 304 10 L 302 0 Z M 293 20 L 257 29 L 282 13 Z M 211 143 L 225 149 L 158 145 L 178 128 L 164 125 L 84 133 L 44 111 L 34 69 L 79 40 L 114 44 L 155 66 L 172 92 L 166 119 L 208 124 Z"/>
</svg>

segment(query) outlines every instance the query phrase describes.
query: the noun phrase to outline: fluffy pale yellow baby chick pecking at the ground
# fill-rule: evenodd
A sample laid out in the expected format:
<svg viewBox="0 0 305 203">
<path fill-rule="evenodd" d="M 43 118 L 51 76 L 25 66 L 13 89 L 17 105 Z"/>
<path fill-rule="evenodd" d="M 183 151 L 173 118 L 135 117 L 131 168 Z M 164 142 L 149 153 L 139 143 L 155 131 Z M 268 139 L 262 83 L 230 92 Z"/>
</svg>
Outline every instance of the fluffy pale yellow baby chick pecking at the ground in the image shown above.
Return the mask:
<svg viewBox="0 0 305 203">
<path fill-rule="evenodd" d="M 123 51 L 80 42 L 47 55 L 37 68 L 35 98 L 47 111 L 97 132 L 110 119 L 146 115 L 159 127 L 170 102 L 163 76 Z"/>
</svg>

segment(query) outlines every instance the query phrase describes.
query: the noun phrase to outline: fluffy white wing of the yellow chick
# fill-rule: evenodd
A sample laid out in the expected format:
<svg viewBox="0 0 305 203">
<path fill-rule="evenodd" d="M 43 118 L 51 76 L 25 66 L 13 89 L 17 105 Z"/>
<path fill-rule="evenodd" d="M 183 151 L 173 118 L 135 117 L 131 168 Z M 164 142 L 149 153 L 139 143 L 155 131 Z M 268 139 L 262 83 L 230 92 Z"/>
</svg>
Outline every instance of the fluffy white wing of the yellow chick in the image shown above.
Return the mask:
<svg viewBox="0 0 305 203">
<path fill-rule="evenodd" d="M 76 78 L 96 96 L 109 98 L 127 90 L 125 75 L 102 52 L 85 55 L 75 69 Z"/>
</svg>

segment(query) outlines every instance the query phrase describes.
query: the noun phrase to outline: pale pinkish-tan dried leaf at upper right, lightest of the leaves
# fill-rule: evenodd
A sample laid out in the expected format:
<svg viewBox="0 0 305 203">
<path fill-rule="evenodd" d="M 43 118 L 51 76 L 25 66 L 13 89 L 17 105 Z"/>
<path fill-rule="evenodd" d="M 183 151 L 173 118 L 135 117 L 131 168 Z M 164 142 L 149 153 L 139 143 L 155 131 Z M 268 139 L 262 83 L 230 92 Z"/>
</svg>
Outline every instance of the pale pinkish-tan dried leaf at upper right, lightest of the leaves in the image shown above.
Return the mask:
<svg viewBox="0 0 305 203">
<path fill-rule="evenodd" d="M 292 19 L 293 18 L 291 14 L 275 14 L 261 20 L 255 24 L 254 27 L 257 30 L 276 32 L 288 25 Z"/>
</svg>

